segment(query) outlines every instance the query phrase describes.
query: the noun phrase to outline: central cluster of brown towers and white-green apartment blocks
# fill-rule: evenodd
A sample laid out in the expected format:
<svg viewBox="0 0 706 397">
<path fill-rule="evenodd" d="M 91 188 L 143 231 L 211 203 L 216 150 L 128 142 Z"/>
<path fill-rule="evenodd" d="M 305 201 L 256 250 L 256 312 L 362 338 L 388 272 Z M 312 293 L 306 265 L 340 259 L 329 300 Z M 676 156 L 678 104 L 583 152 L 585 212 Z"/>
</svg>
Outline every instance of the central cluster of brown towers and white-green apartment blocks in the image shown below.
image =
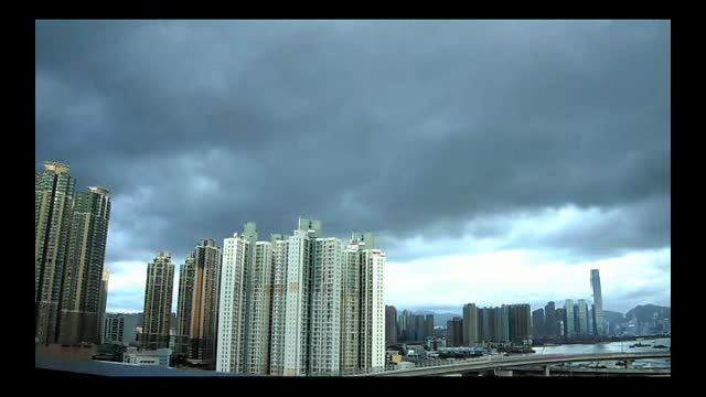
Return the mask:
<svg viewBox="0 0 706 397">
<path fill-rule="evenodd" d="M 347 245 L 299 219 L 291 236 L 257 226 L 204 239 L 180 270 L 176 353 L 218 372 L 285 376 L 385 366 L 385 253 L 372 234 Z M 142 346 L 169 345 L 173 265 L 148 265 Z M 394 331 L 394 329 L 393 329 Z"/>
</svg>

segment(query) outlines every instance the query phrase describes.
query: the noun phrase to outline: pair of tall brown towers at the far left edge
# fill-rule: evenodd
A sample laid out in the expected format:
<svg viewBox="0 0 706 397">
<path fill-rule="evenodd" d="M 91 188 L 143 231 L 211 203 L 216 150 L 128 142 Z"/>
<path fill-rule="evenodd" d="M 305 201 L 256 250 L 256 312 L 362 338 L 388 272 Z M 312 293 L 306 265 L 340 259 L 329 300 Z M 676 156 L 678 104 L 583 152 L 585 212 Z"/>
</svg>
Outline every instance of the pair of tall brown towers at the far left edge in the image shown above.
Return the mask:
<svg viewBox="0 0 706 397">
<path fill-rule="evenodd" d="M 76 192 L 71 168 L 44 162 L 34 175 L 34 336 L 40 343 L 100 343 L 110 195 Z"/>
</svg>

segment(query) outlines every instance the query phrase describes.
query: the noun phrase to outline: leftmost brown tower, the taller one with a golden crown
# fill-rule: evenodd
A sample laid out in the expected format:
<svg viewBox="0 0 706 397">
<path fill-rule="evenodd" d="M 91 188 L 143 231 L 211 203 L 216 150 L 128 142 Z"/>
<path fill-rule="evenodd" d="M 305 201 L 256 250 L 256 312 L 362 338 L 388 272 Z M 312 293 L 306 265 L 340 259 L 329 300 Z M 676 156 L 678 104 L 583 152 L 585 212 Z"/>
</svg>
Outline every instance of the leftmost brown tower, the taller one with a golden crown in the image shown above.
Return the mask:
<svg viewBox="0 0 706 397">
<path fill-rule="evenodd" d="M 76 181 L 71 168 L 44 162 L 34 173 L 34 337 L 55 343 Z"/>
</svg>

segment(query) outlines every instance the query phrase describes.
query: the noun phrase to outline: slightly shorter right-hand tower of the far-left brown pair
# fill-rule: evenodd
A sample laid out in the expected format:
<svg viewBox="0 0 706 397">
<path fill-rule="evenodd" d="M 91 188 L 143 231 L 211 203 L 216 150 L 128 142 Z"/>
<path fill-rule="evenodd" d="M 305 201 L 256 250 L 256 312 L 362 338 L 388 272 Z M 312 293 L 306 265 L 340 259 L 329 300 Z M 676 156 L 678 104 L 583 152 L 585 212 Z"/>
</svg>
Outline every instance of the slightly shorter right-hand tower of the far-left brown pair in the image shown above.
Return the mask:
<svg viewBox="0 0 706 397">
<path fill-rule="evenodd" d="M 63 344 L 100 343 L 110 195 L 104 187 L 88 189 L 74 196 L 62 299 Z"/>
</svg>

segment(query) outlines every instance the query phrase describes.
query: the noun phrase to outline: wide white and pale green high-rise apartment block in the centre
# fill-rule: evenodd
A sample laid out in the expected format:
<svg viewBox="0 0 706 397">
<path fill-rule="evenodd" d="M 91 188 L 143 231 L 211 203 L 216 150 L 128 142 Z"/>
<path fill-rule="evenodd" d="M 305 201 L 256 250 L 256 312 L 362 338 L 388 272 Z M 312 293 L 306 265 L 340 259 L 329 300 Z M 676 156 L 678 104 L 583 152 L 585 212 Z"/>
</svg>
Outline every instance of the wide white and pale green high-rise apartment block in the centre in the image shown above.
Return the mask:
<svg viewBox="0 0 706 397">
<path fill-rule="evenodd" d="M 257 242 L 255 224 L 246 224 L 224 240 L 216 371 L 384 368 L 384 264 L 371 234 L 343 247 L 321 235 L 320 222 L 299 219 L 291 236 Z"/>
</svg>

